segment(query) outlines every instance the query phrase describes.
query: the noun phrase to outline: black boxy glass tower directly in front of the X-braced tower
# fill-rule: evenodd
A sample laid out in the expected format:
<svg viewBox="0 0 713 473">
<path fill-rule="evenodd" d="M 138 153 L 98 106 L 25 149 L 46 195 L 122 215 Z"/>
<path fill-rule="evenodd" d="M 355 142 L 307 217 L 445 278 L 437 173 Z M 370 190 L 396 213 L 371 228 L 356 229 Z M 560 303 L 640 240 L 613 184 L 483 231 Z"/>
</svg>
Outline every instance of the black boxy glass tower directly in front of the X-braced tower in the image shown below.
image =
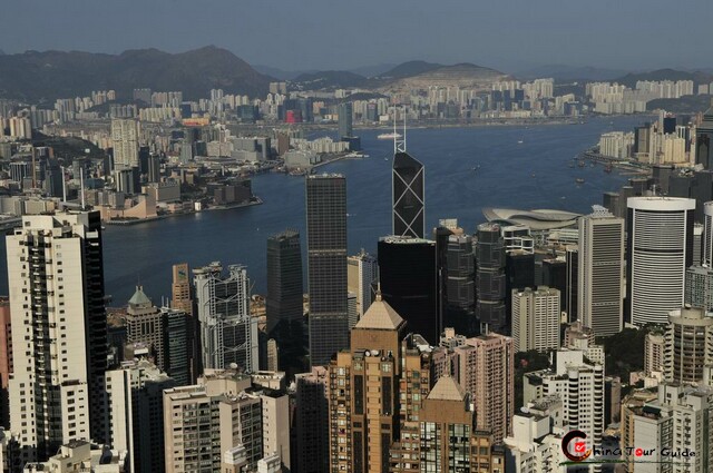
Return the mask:
<svg viewBox="0 0 713 473">
<path fill-rule="evenodd" d="M 409 332 L 436 344 L 442 332 L 439 318 L 436 242 L 389 236 L 379 239 L 381 294 L 409 323 Z"/>
</svg>

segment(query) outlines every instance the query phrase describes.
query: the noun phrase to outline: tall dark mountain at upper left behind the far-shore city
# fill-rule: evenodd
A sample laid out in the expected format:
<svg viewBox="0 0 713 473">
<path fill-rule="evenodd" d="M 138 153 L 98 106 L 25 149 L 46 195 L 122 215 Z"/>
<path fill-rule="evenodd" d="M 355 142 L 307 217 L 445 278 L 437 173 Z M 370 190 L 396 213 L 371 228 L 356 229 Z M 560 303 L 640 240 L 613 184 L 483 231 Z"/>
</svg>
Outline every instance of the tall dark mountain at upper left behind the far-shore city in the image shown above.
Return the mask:
<svg viewBox="0 0 713 473">
<path fill-rule="evenodd" d="M 214 88 L 255 97 L 267 93 L 271 80 L 214 46 L 176 55 L 139 49 L 120 55 L 27 51 L 0 56 L 0 97 L 33 102 L 108 89 L 129 100 L 135 88 L 145 87 L 182 90 L 186 99 L 206 97 Z"/>
</svg>

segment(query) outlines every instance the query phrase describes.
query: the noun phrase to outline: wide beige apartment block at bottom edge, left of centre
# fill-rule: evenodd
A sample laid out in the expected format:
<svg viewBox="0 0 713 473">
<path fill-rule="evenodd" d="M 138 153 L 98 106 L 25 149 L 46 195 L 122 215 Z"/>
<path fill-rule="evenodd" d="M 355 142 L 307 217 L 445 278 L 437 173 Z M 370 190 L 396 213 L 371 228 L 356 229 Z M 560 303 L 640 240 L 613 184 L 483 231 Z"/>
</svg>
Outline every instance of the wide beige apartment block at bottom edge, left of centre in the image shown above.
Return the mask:
<svg viewBox="0 0 713 473">
<path fill-rule="evenodd" d="M 164 430 L 167 473 L 219 473 L 222 463 L 244 469 L 227 471 L 255 471 L 273 454 L 290 470 L 287 395 L 254 385 L 248 375 L 211 371 L 196 385 L 164 390 L 163 415 L 172 426 Z M 235 451 L 240 446 L 244 451 Z"/>
</svg>

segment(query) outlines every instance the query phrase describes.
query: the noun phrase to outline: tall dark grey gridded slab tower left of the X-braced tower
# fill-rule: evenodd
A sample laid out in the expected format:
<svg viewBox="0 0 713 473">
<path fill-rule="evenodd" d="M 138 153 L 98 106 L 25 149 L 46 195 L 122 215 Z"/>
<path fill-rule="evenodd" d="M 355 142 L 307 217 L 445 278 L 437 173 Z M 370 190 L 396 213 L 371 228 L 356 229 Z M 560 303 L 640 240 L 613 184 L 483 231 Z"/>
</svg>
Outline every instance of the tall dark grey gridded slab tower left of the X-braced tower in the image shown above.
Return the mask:
<svg viewBox="0 0 713 473">
<path fill-rule="evenodd" d="M 310 359 L 326 365 L 349 346 L 346 306 L 346 179 L 312 175 L 305 179 Z"/>
</svg>

